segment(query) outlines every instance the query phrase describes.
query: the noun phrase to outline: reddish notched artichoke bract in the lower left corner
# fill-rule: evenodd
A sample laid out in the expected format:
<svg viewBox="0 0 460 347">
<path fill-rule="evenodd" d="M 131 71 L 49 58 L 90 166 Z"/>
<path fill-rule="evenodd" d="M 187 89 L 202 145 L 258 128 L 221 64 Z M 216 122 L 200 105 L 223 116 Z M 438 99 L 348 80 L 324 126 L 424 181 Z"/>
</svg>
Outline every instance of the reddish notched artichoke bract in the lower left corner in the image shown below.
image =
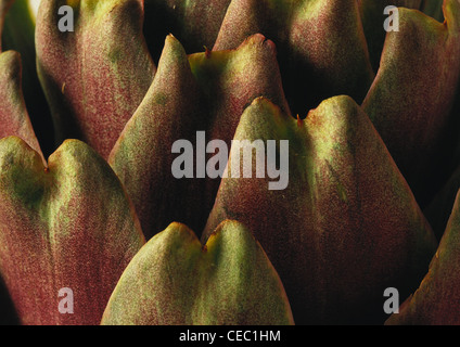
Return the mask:
<svg viewBox="0 0 460 347">
<path fill-rule="evenodd" d="M 118 178 L 94 150 L 67 140 L 44 167 L 23 140 L 0 140 L 0 271 L 24 324 L 98 324 L 144 244 Z M 58 310 L 72 288 L 74 313 Z"/>
</svg>

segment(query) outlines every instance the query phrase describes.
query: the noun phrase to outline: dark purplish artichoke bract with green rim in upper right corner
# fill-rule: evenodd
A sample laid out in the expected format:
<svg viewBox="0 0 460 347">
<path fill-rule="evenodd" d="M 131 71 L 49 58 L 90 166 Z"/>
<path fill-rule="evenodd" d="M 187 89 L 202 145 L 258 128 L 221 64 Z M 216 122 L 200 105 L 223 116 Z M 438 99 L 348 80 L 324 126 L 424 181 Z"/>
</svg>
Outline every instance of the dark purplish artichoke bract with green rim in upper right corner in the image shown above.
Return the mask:
<svg viewBox="0 0 460 347">
<path fill-rule="evenodd" d="M 444 16 L 442 24 L 417 11 L 399 11 L 399 31 L 388 33 L 362 103 L 423 205 L 440 188 L 436 176 L 445 175 L 443 160 L 453 154 L 451 138 L 458 139 L 449 129 L 458 123 L 450 115 L 460 76 L 460 3 L 445 1 Z"/>
</svg>

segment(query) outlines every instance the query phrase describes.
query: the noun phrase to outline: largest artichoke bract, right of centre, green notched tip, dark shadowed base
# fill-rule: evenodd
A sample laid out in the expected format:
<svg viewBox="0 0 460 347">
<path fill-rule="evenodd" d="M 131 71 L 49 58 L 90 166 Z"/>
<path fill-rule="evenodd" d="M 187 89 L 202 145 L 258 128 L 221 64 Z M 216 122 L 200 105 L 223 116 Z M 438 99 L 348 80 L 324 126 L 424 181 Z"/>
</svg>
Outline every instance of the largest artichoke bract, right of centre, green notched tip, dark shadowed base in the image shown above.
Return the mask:
<svg viewBox="0 0 460 347">
<path fill-rule="evenodd" d="M 203 240 L 226 219 L 253 230 L 283 281 L 296 323 L 366 323 L 386 287 L 406 295 L 417 287 L 436 239 L 349 97 L 324 101 L 305 121 L 259 98 L 243 113 L 235 138 L 289 139 L 290 183 L 268 191 L 255 165 L 252 178 L 223 178 Z M 228 170 L 234 165 L 240 162 L 230 160 Z"/>
</svg>

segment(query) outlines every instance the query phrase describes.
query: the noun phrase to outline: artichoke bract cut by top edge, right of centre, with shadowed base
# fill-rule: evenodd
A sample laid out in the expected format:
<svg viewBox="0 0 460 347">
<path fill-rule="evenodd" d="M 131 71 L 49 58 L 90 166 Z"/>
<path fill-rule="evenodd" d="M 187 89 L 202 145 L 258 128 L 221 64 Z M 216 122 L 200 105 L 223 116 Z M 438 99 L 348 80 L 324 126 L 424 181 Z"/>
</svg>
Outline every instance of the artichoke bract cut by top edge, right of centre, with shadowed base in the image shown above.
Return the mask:
<svg viewBox="0 0 460 347">
<path fill-rule="evenodd" d="M 214 50 L 235 48 L 257 33 L 277 44 L 295 113 L 337 94 L 358 102 L 366 97 L 374 73 L 356 1 L 233 0 Z"/>
</svg>

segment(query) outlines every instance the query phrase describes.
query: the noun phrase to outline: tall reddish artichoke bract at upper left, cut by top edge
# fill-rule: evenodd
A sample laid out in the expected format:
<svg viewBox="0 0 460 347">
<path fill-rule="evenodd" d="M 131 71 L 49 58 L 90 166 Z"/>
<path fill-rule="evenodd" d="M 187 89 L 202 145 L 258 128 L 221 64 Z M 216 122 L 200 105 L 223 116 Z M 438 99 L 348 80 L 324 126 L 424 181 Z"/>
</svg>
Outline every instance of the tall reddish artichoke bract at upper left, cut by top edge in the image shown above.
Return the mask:
<svg viewBox="0 0 460 347">
<path fill-rule="evenodd" d="M 75 5 L 75 31 L 61 33 L 58 10 L 67 3 Z M 155 73 L 142 13 L 140 0 L 41 2 L 37 68 L 58 141 L 78 138 L 108 155 Z"/>
</svg>

